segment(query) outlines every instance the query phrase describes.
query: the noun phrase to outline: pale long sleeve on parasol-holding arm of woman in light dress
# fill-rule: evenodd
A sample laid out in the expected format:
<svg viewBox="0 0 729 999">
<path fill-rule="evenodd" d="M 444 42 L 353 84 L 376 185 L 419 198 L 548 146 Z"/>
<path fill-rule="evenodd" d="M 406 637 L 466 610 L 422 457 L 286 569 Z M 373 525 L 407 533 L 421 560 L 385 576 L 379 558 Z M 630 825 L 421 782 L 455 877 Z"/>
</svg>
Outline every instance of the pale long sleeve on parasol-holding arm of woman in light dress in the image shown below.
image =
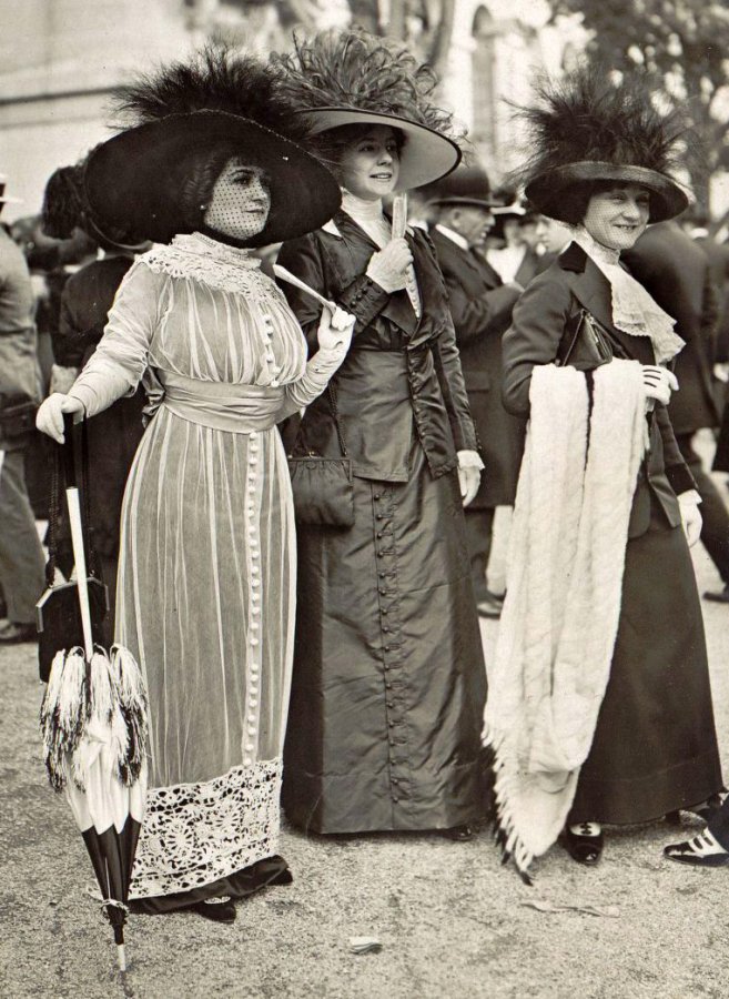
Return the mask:
<svg viewBox="0 0 729 999">
<path fill-rule="evenodd" d="M 136 390 L 148 366 L 164 280 L 138 262 L 122 282 L 104 335 L 69 393 L 83 403 L 88 416 Z"/>
</svg>

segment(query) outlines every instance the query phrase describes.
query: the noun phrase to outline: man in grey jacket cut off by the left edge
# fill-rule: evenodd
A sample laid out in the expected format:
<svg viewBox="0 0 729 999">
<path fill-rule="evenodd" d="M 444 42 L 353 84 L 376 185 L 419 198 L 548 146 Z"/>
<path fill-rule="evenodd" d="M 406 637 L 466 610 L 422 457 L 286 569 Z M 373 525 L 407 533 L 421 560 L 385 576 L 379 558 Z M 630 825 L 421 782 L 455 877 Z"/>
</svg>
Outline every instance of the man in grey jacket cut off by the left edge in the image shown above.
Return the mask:
<svg viewBox="0 0 729 999">
<path fill-rule="evenodd" d="M 18 199 L 6 195 L 0 212 Z M 36 601 L 43 588 L 43 549 L 26 487 L 24 448 L 40 402 L 33 293 L 26 258 L 0 226 L 0 589 L 7 617 L 0 644 L 36 636 Z"/>
</svg>

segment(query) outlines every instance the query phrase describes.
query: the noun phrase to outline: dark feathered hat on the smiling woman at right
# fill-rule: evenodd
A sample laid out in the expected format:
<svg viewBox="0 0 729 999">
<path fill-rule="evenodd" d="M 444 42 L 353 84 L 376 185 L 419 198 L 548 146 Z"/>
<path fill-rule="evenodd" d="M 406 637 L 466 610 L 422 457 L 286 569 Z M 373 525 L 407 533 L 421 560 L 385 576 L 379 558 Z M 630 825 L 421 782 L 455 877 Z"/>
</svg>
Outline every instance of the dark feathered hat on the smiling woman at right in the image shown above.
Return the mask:
<svg viewBox="0 0 729 999">
<path fill-rule="evenodd" d="M 559 81 L 541 78 L 536 101 L 519 108 L 533 150 L 520 179 L 545 215 L 569 218 L 570 191 L 590 181 L 635 183 L 650 192 L 650 221 L 680 214 L 686 191 L 671 175 L 684 129 L 661 114 L 637 75 L 612 85 L 608 71 L 578 67 Z"/>
</svg>

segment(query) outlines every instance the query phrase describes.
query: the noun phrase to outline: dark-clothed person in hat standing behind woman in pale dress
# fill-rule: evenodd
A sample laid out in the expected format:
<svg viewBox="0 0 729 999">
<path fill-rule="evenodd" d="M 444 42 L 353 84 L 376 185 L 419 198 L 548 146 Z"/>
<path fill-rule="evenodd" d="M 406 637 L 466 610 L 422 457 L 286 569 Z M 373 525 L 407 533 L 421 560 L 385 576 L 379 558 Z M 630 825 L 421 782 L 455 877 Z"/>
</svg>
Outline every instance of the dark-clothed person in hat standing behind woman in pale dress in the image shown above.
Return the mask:
<svg viewBox="0 0 729 999">
<path fill-rule="evenodd" d="M 81 266 L 63 270 L 58 315 L 49 327 L 54 364 L 50 392 L 67 393 L 79 372 L 94 353 L 107 325 L 108 313 L 134 254 L 150 243 L 124 242 L 124 233 L 114 239 L 101 233 L 91 220 L 83 188 L 84 163 L 62 167 L 48 181 L 41 215 L 41 233 L 55 242 L 57 270 L 78 251 L 85 249 Z M 93 248 L 93 252 L 91 252 Z M 97 259 L 98 253 L 101 254 Z M 138 387 L 133 395 L 118 400 L 88 422 L 89 512 L 93 543 L 109 586 L 109 639 L 113 638 L 119 561 L 119 525 L 126 477 L 142 438 L 142 408 L 146 397 Z M 48 473 L 47 473 L 48 474 Z M 67 529 L 59 538 L 59 566 L 68 576 L 73 565 Z"/>
</svg>

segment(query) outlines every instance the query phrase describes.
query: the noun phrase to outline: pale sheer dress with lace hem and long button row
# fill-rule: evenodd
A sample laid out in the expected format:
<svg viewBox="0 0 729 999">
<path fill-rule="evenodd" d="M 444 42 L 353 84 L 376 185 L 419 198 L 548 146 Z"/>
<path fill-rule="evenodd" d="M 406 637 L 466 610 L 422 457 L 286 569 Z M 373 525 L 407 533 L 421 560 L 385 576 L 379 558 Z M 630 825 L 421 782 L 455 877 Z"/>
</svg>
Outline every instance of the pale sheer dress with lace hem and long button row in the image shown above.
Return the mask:
<svg viewBox="0 0 729 999">
<path fill-rule="evenodd" d="M 132 898 L 195 892 L 277 851 L 295 539 L 274 424 L 343 356 L 306 363 L 259 261 L 194 234 L 132 266 L 72 390 L 89 415 L 145 372 L 158 390 L 126 484 L 117 602 L 151 715 Z"/>
</svg>

